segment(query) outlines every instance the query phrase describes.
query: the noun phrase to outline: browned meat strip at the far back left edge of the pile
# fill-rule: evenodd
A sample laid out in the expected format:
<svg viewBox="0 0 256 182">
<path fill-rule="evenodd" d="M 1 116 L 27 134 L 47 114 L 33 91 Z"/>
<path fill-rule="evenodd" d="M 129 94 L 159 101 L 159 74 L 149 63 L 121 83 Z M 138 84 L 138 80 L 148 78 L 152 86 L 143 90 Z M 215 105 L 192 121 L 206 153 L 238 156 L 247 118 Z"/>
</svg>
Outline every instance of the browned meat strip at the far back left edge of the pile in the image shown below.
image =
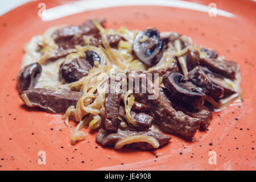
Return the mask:
<svg viewBox="0 0 256 182">
<path fill-rule="evenodd" d="M 105 20 L 97 20 L 101 26 L 104 26 Z M 53 32 L 51 37 L 56 43 L 66 42 L 68 39 L 72 38 L 74 35 L 89 35 L 98 33 L 98 29 L 93 23 L 92 19 L 86 20 L 86 22 L 80 24 L 79 26 L 69 26 L 61 28 Z"/>
</svg>

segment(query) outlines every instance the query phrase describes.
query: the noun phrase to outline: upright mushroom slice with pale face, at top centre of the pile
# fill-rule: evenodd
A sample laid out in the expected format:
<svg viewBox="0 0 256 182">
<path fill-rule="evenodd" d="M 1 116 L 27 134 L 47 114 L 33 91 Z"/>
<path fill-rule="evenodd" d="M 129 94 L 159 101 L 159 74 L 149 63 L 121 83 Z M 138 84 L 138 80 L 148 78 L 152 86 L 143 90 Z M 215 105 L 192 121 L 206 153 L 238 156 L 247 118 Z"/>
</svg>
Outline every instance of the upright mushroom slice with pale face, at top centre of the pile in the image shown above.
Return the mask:
<svg viewBox="0 0 256 182">
<path fill-rule="evenodd" d="M 163 41 L 159 31 L 150 28 L 137 34 L 133 42 L 133 53 L 142 63 L 152 67 L 163 56 Z"/>
</svg>

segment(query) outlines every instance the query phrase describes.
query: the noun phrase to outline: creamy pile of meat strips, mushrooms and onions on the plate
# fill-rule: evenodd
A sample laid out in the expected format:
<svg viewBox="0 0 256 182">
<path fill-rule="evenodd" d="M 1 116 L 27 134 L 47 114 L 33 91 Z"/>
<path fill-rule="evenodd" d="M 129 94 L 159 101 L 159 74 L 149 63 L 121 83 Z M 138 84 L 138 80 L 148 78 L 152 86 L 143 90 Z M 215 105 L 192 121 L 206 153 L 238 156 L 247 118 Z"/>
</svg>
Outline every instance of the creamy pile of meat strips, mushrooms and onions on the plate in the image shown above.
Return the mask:
<svg viewBox="0 0 256 182">
<path fill-rule="evenodd" d="M 71 142 L 150 150 L 192 139 L 212 115 L 242 101 L 239 65 L 156 28 L 106 29 L 105 20 L 50 28 L 25 48 L 17 87 L 28 107 L 64 114 Z M 75 129 L 69 119 L 78 123 Z"/>
</svg>

